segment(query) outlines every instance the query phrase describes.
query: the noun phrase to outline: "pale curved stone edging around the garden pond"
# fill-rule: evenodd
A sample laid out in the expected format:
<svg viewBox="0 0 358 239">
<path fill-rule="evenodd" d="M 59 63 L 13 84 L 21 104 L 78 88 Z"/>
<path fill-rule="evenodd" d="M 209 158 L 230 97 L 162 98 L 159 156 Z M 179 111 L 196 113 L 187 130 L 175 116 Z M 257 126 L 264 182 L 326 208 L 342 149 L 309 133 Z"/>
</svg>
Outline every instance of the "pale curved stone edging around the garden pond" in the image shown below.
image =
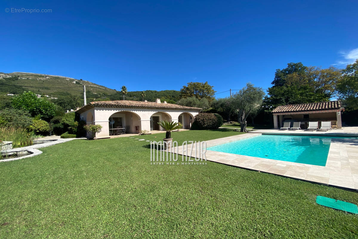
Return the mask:
<svg viewBox="0 0 358 239">
<path fill-rule="evenodd" d="M 1 153 L 11 153 L 11 152 L 19 152 L 19 151 L 28 151 L 31 154 L 23 156 L 23 157 L 18 157 L 18 158 L 9 158 L 9 159 L 3 159 L 0 160 L 0 162 L 9 162 L 9 161 L 14 161 L 14 160 L 19 160 L 19 159 L 24 159 L 24 158 L 30 158 L 30 157 L 34 157 L 37 156 L 39 154 L 42 154 L 41 150 L 38 150 L 39 148 L 45 148 L 45 147 L 49 147 L 51 145 L 55 145 L 55 144 L 61 144 L 64 142 L 68 142 L 71 141 L 73 139 L 87 139 L 87 138 L 69 138 L 69 139 L 57 139 L 57 140 L 51 140 L 49 142 L 46 143 L 42 143 L 42 144 L 34 144 L 34 145 L 30 145 L 30 146 L 26 146 L 26 147 L 21 147 L 21 148 L 13 148 L 10 150 L 1 150 Z"/>
</svg>

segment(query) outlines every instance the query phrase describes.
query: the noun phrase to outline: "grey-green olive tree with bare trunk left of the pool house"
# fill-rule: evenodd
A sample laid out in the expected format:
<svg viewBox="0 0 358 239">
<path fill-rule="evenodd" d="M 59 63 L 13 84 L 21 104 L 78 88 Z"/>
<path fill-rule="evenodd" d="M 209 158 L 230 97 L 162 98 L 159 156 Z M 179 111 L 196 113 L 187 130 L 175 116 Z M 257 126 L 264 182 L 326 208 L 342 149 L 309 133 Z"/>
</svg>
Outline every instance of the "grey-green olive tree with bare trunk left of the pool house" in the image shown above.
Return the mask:
<svg viewBox="0 0 358 239">
<path fill-rule="evenodd" d="M 261 106 L 264 95 L 265 92 L 263 92 L 262 88 L 255 87 L 250 82 L 246 83 L 245 87 L 233 95 L 232 104 L 238 111 L 241 132 L 247 132 L 247 116 Z"/>
</svg>

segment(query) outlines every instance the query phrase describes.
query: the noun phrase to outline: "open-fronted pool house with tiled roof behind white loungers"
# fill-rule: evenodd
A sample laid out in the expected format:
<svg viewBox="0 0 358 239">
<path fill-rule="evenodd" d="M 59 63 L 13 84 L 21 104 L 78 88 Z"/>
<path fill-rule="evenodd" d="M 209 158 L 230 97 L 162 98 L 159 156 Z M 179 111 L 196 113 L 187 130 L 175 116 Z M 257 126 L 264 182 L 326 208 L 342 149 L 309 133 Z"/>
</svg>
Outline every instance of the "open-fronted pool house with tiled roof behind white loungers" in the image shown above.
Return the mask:
<svg viewBox="0 0 358 239">
<path fill-rule="evenodd" d="M 342 128 L 341 111 L 344 111 L 339 100 L 308 104 L 281 105 L 272 110 L 275 129 L 282 127 L 284 121 L 300 121 L 301 128 L 306 128 L 309 121 L 331 121 L 333 128 Z M 292 124 L 291 124 L 292 125 Z"/>
</svg>

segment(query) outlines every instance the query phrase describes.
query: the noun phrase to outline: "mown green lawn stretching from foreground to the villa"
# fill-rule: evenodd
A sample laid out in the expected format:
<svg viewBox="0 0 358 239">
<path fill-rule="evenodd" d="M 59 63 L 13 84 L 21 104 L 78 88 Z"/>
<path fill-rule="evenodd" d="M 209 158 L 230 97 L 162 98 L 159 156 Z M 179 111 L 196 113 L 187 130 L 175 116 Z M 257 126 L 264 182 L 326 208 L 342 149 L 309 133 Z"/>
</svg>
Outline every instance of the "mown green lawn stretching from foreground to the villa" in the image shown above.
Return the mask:
<svg viewBox="0 0 358 239">
<path fill-rule="evenodd" d="M 184 131 L 172 137 L 183 142 L 239 133 Z M 315 203 L 322 195 L 358 204 L 357 192 L 213 162 L 151 166 L 148 144 L 77 139 L 0 163 L 0 238 L 358 236 L 357 215 Z"/>
</svg>

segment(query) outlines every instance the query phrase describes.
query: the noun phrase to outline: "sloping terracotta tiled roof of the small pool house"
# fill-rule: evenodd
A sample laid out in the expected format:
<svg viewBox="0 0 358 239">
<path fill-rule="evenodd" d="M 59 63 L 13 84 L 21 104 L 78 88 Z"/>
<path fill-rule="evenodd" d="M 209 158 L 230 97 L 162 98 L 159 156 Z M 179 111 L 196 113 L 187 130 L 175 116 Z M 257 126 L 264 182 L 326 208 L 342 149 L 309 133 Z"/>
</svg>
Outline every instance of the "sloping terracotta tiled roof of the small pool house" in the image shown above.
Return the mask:
<svg viewBox="0 0 358 239">
<path fill-rule="evenodd" d="M 333 110 L 340 109 L 342 104 L 340 100 L 277 106 L 272 113 L 297 112 L 297 111 L 314 111 L 314 110 Z"/>
</svg>

